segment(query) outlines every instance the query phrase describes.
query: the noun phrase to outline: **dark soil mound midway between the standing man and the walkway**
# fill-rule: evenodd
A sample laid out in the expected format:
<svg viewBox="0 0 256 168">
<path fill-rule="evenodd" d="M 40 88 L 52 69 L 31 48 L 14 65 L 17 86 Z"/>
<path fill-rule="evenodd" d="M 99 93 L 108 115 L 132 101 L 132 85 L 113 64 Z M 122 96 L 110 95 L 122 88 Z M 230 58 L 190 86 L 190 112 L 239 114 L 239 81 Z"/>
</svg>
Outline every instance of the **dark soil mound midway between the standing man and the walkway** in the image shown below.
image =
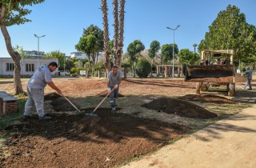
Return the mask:
<svg viewBox="0 0 256 168">
<path fill-rule="evenodd" d="M 195 105 L 191 102 L 179 100 L 177 98 L 158 98 L 148 102 L 142 107 L 158 112 L 165 112 L 168 114 L 177 114 L 186 118 L 216 118 L 217 114 L 202 108 L 202 106 Z"/>
</svg>

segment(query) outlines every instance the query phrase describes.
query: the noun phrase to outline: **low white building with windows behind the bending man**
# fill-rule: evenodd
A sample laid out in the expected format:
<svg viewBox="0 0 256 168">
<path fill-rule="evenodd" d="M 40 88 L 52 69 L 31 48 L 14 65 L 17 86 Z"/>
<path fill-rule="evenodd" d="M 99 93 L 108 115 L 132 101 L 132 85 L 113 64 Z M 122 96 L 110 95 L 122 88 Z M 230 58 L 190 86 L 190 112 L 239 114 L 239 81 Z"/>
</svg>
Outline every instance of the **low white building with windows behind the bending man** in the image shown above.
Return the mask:
<svg viewBox="0 0 256 168">
<path fill-rule="evenodd" d="M 39 66 L 48 65 L 50 62 L 58 64 L 58 58 L 22 58 L 21 75 L 22 77 L 31 77 Z M 53 77 L 58 76 L 58 68 L 52 72 Z M 14 61 L 12 58 L 0 58 L 0 77 L 12 78 L 14 75 Z"/>
</svg>

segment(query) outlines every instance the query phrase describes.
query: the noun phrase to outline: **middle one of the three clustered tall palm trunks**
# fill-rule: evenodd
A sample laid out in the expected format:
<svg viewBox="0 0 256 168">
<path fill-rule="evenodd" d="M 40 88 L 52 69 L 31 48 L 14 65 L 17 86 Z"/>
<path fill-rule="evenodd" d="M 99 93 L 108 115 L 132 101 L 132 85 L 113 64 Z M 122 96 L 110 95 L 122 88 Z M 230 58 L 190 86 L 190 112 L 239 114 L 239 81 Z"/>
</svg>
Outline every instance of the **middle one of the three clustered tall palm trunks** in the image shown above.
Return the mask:
<svg viewBox="0 0 256 168">
<path fill-rule="evenodd" d="M 114 65 L 118 63 L 118 0 L 113 0 L 114 14 Z"/>
</svg>

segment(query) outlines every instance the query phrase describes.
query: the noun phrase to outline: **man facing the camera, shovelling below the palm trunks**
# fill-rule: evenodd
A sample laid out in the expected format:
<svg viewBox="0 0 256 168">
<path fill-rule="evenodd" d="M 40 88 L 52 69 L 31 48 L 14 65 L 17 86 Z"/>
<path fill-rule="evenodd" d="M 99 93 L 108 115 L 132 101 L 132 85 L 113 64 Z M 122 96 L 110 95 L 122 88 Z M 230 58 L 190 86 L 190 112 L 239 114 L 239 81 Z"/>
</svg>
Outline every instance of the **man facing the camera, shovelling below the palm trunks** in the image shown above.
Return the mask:
<svg viewBox="0 0 256 168">
<path fill-rule="evenodd" d="M 116 110 L 114 98 L 118 96 L 119 85 L 122 82 L 122 72 L 118 70 L 118 66 L 113 66 L 112 70 L 107 75 L 107 93 L 110 94 L 111 109 Z M 114 89 L 114 90 L 113 90 Z M 113 90 L 111 92 L 111 90 Z"/>
</svg>

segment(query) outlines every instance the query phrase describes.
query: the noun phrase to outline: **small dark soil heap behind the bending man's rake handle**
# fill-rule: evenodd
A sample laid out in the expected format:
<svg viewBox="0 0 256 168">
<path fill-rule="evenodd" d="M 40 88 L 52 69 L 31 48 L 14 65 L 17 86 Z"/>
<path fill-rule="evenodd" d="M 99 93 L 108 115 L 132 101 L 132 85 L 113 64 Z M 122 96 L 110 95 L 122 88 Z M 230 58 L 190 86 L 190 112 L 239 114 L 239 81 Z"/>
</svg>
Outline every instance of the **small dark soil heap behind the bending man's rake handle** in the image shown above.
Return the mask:
<svg viewBox="0 0 256 168">
<path fill-rule="evenodd" d="M 55 111 L 73 111 L 73 110 L 75 110 L 74 106 L 71 106 L 70 103 L 67 102 L 66 99 L 62 98 L 62 97 L 53 99 L 52 102 L 50 102 L 50 105 L 54 106 Z"/>
</svg>

